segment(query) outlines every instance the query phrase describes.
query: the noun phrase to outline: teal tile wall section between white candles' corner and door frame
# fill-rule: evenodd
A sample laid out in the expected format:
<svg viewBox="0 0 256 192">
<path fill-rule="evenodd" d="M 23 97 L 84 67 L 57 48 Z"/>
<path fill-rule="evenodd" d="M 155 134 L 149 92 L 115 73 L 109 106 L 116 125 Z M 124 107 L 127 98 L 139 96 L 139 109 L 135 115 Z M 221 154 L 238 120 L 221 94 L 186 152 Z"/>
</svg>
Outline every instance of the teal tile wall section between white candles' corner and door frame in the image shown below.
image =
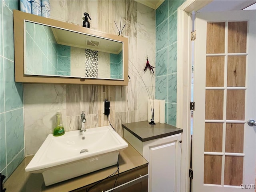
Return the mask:
<svg viewBox="0 0 256 192">
<path fill-rule="evenodd" d="M 176 126 L 177 8 L 184 0 L 165 0 L 156 10 L 156 99 L 165 100 L 165 122 Z"/>
</svg>

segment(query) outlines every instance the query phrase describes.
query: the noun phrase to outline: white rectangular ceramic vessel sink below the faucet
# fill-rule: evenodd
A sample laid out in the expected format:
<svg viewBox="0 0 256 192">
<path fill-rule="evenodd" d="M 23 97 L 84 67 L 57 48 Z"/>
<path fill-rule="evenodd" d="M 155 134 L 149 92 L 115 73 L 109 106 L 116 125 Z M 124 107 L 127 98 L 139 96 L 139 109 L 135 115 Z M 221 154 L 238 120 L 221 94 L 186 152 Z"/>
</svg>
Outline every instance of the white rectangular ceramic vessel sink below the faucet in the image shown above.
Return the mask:
<svg viewBox="0 0 256 192">
<path fill-rule="evenodd" d="M 128 144 L 111 126 L 49 134 L 26 172 L 42 173 L 46 186 L 117 164 Z"/>
</svg>

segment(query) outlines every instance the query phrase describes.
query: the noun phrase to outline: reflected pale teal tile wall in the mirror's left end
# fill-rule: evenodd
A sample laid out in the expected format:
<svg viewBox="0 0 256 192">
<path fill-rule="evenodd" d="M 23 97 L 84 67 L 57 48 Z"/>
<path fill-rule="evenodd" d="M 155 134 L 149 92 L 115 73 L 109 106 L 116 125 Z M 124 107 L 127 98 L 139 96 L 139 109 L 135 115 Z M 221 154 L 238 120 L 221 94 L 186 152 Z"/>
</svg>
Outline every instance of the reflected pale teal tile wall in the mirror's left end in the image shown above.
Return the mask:
<svg viewBox="0 0 256 192">
<path fill-rule="evenodd" d="M 57 74 L 57 58 L 57 42 L 50 27 L 26 22 L 27 74 Z"/>
</svg>

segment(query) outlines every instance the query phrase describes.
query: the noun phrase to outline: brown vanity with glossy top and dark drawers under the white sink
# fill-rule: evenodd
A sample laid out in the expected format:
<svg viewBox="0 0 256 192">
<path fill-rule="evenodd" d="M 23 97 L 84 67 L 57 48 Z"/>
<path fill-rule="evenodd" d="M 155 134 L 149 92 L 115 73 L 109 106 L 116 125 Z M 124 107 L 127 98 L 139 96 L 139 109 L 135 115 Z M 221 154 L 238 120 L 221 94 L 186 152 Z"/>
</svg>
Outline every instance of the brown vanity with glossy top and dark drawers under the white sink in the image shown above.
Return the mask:
<svg viewBox="0 0 256 192">
<path fill-rule="evenodd" d="M 4 183 L 6 192 L 108 192 L 112 191 L 118 176 L 116 172 L 117 166 L 114 165 L 70 180 L 45 186 L 42 174 L 25 172 L 25 167 L 32 157 L 26 157 L 6 180 Z M 119 153 L 118 163 L 120 174 L 115 184 L 115 192 L 148 191 L 148 162 L 130 144 Z M 111 177 L 103 180 L 111 174 L 113 174 Z M 100 182 L 101 180 L 103 181 Z M 90 190 L 88 190 L 89 188 Z"/>
</svg>

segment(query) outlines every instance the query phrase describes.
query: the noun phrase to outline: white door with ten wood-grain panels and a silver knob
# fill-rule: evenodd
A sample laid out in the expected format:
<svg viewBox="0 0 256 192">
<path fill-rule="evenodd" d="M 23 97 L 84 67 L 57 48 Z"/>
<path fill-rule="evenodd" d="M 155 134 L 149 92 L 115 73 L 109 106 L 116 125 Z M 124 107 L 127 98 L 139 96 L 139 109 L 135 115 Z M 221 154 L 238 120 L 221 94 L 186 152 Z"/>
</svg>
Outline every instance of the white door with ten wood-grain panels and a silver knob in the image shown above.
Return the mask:
<svg viewBox="0 0 256 192">
<path fill-rule="evenodd" d="M 196 14 L 192 191 L 254 191 L 255 18 Z"/>
</svg>

